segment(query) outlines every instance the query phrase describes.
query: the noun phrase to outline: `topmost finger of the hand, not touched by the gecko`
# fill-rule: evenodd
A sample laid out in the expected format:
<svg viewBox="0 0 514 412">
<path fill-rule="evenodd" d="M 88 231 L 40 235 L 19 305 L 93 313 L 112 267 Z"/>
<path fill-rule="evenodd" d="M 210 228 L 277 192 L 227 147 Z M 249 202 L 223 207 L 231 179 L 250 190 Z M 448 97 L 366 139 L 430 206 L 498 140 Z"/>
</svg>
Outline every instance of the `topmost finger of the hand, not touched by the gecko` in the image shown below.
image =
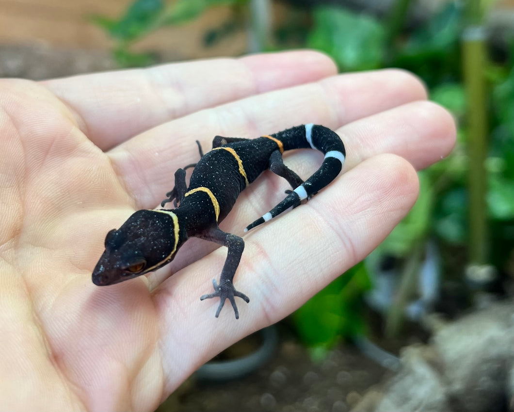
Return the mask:
<svg viewBox="0 0 514 412">
<path fill-rule="evenodd" d="M 105 150 L 196 110 L 336 72 L 326 55 L 305 50 L 85 74 L 43 84 L 75 111 L 82 130 Z"/>
</svg>

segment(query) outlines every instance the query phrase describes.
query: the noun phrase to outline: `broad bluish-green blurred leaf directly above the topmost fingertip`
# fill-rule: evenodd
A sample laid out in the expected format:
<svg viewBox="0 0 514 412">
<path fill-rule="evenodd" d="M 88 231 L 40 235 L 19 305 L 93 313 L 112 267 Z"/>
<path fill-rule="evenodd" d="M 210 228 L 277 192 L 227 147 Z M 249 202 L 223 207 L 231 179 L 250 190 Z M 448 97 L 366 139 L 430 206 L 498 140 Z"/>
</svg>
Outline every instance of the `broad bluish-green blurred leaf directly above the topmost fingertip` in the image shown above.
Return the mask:
<svg viewBox="0 0 514 412">
<path fill-rule="evenodd" d="M 386 31 L 375 18 L 337 7 L 317 7 L 307 46 L 330 54 L 343 71 L 382 66 Z"/>
</svg>

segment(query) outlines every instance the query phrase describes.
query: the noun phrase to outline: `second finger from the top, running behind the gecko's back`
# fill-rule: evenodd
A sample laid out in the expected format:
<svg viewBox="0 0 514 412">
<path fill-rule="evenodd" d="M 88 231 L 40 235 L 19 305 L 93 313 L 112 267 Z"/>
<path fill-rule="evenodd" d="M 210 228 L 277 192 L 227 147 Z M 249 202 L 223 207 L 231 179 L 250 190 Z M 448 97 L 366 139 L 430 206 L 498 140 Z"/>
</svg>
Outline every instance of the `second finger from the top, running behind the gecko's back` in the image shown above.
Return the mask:
<svg viewBox="0 0 514 412">
<path fill-rule="evenodd" d="M 197 161 L 195 139 L 206 147 L 215 135 L 253 138 L 311 122 L 336 129 L 425 97 L 417 78 L 400 70 L 344 74 L 168 122 L 128 140 L 109 156 L 138 205 L 152 208 L 173 186 L 177 168 Z"/>
</svg>

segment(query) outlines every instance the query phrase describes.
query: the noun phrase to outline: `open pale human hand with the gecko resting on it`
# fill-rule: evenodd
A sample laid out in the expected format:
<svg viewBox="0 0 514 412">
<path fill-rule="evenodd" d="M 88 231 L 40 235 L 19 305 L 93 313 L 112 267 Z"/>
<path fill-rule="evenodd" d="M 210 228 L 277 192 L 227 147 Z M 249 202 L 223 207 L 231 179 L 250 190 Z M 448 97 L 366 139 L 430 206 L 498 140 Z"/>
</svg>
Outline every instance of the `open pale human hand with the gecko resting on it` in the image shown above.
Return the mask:
<svg viewBox="0 0 514 412">
<path fill-rule="evenodd" d="M 154 208 L 198 139 L 258 137 L 303 123 L 335 130 L 341 174 L 306 204 L 245 234 L 235 320 L 200 302 L 226 249 L 192 239 L 168 266 L 97 287 L 108 230 Z M 416 200 L 416 169 L 446 156 L 452 117 L 400 70 L 337 75 L 314 51 L 167 64 L 45 82 L 0 80 L 0 405 L 152 410 L 196 368 L 277 322 L 369 254 Z M 302 177 L 323 155 L 293 152 Z M 284 197 L 265 172 L 221 228 Z M 173 274 L 173 276 L 170 276 Z M 242 301 L 240 301 L 242 302 Z"/>
</svg>

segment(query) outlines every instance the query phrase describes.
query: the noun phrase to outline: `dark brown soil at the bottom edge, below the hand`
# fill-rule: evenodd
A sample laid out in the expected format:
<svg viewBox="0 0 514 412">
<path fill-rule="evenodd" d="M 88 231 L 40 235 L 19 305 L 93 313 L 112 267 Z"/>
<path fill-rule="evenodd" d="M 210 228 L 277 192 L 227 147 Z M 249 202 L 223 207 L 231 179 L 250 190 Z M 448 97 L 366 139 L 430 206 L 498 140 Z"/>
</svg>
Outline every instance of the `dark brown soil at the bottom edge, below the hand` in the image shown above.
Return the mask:
<svg viewBox="0 0 514 412">
<path fill-rule="evenodd" d="M 193 376 L 158 410 L 346 412 L 386 371 L 350 345 L 314 362 L 296 340 L 281 338 L 272 358 L 248 376 L 218 382 Z"/>
</svg>

